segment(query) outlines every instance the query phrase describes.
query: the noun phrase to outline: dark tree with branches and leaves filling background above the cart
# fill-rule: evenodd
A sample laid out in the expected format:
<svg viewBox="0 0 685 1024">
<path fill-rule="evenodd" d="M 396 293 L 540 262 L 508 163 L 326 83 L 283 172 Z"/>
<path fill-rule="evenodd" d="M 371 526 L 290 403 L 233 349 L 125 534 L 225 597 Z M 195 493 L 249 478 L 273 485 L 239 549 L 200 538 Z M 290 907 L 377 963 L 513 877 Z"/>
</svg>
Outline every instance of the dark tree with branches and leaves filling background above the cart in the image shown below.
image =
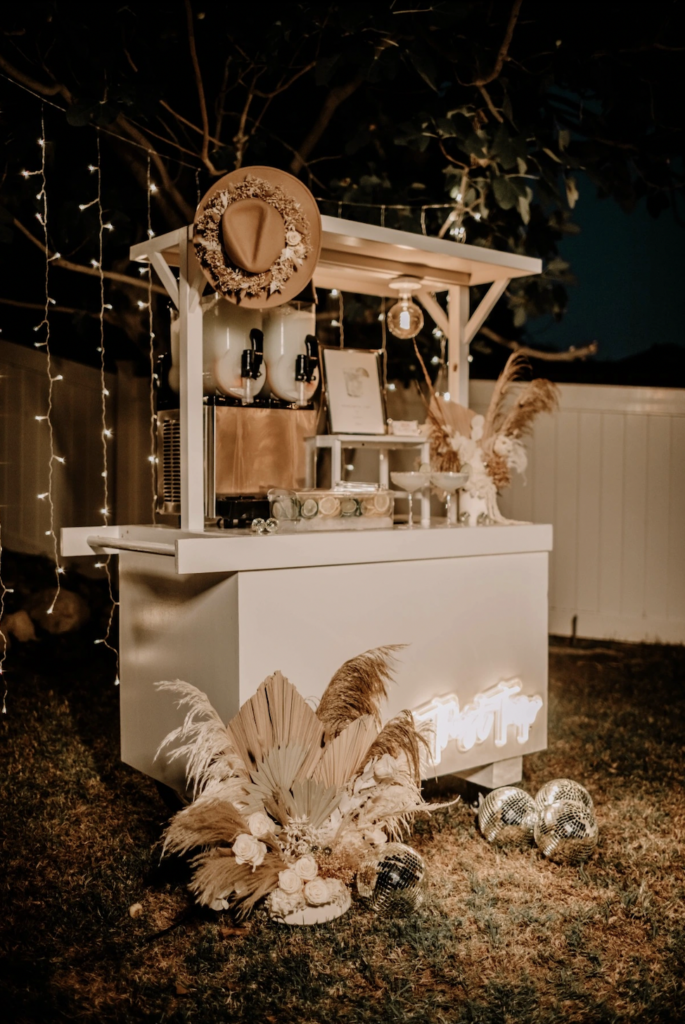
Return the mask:
<svg viewBox="0 0 685 1024">
<path fill-rule="evenodd" d="M 378 222 L 366 204 L 405 204 L 385 211 L 388 226 L 437 233 L 448 208 L 427 210 L 423 225 L 418 208 L 454 204 L 469 242 L 544 257 L 541 278 L 510 290 L 504 333 L 520 337 L 526 317 L 565 309 L 572 279 L 558 245 L 576 230 L 581 168 L 626 210 L 646 202 L 657 216 L 675 202 L 678 14 L 667 0 L 648 11 L 618 0 L 286 3 L 258 16 L 199 0 L 16 5 L 0 40 L 10 257 L 0 298 L 19 303 L 3 306 L 5 337 L 32 344 L 40 310 L 26 304 L 42 301 L 40 251 L 16 226 L 36 234 L 38 179 L 20 171 L 39 163 L 41 108 L 20 87 L 45 102 L 50 244 L 72 263 L 97 256 L 96 209 L 79 207 L 95 195 L 98 127 L 108 269 L 130 273 L 128 247 L 146 231 L 147 152 L 158 233 L 190 219 L 198 190 L 222 171 L 271 164 L 301 175 L 325 213 Z M 55 264 L 52 281 L 58 305 L 75 310 L 53 316 L 56 350 L 97 361 L 97 280 Z M 142 368 L 145 294 L 109 281 L 108 295 L 110 357 Z M 361 334 L 375 324 L 378 344 L 378 308 L 365 310 L 350 304 L 346 318 Z M 428 331 L 422 345 L 438 353 Z M 417 378 L 411 352 L 394 351 L 391 376 Z"/>
</svg>

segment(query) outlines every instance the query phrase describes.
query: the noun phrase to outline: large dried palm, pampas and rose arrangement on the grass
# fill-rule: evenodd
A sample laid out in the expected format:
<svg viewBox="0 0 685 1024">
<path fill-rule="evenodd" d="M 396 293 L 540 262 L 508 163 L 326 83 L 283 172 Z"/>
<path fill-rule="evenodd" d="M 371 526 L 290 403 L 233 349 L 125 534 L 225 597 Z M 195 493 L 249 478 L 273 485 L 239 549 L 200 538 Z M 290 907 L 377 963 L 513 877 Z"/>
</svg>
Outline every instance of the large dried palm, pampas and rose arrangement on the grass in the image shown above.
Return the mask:
<svg viewBox="0 0 685 1024">
<path fill-rule="evenodd" d="M 188 709 L 158 755 L 185 759 L 195 795 L 164 854 L 197 851 L 190 889 L 201 903 L 245 914 L 268 896 L 276 920 L 331 920 L 349 906 L 359 865 L 434 809 L 421 797 L 428 743 L 411 712 L 381 728 L 402 646 L 346 662 L 316 712 L 276 672 L 225 726 L 195 686 L 157 683 Z"/>
</svg>

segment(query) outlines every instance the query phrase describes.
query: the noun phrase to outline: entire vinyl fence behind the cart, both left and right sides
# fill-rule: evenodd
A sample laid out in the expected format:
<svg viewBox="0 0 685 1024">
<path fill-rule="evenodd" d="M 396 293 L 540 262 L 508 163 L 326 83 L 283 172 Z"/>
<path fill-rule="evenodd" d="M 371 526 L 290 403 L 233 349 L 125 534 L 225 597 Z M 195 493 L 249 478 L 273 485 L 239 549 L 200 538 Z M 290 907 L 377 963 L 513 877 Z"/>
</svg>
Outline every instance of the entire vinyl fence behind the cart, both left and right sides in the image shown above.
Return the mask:
<svg viewBox="0 0 685 1024">
<path fill-rule="evenodd" d="M 96 370 L 54 360 L 55 525 L 101 522 L 100 384 Z M 112 522 L 151 522 L 147 383 L 120 364 L 108 375 Z M 401 389 L 400 389 L 401 390 Z M 491 381 L 471 382 L 483 412 Z M 49 553 L 45 354 L 0 342 L 0 516 L 7 548 Z M 422 418 L 415 392 L 391 414 Z M 539 418 L 525 481 L 505 515 L 554 525 L 550 632 L 685 642 L 685 391 L 561 386 L 561 408 Z"/>
</svg>

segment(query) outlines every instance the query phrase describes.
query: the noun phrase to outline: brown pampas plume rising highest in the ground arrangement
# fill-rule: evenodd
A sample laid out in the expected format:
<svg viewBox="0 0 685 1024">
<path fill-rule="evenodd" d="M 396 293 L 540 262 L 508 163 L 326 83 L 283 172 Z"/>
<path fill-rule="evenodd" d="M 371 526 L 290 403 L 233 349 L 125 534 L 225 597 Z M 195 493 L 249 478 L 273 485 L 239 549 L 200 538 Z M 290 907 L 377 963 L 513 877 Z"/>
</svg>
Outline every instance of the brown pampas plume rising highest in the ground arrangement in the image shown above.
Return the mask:
<svg viewBox="0 0 685 1024">
<path fill-rule="evenodd" d="M 337 736 L 361 715 L 371 715 L 380 726 L 381 701 L 393 679 L 394 654 L 405 644 L 387 644 L 351 657 L 341 666 L 326 687 L 316 709 L 329 735 Z"/>
</svg>

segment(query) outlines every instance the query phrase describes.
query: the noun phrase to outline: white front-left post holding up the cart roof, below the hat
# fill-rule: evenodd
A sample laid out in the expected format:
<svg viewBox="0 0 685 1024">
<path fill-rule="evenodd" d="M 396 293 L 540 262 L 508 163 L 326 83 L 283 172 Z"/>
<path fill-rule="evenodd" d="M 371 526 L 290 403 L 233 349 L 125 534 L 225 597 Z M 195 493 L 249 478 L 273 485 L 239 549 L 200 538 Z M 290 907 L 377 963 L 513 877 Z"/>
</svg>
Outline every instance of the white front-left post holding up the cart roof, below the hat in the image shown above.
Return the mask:
<svg viewBox="0 0 685 1024">
<path fill-rule="evenodd" d="M 205 472 L 200 296 L 205 279 L 198 274 L 190 240 L 183 240 L 179 250 L 181 529 L 202 534 L 205 529 Z"/>
</svg>

